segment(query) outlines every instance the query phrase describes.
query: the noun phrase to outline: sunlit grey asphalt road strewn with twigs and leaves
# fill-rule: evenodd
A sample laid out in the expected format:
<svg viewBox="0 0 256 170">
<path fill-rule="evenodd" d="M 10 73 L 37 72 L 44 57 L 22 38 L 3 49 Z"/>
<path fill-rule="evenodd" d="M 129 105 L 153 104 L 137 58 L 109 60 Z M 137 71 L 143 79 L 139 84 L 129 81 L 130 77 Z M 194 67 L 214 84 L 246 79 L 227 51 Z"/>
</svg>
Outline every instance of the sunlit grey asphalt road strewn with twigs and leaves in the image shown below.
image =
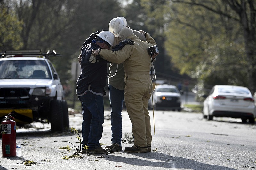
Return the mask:
<svg viewBox="0 0 256 170">
<path fill-rule="evenodd" d="M 111 143 L 109 114 L 110 111 L 105 112 L 104 131 L 100 140 L 103 147 Z M 48 124 L 38 129 L 42 125 L 35 123 L 32 125 L 37 127 L 36 130 L 33 127 L 17 130 L 17 140 L 22 144 L 22 157 L 0 157 L 0 169 L 256 169 L 256 124 L 242 124 L 239 119 L 232 118 L 214 118 L 209 121 L 203 119 L 200 113 L 182 111 L 155 111 L 154 119 L 152 111 L 150 115 L 153 136 L 151 149 L 155 150 L 153 152 L 81 154 L 81 158 L 65 160 L 62 157 L 72 155 L 73 150 L 59 148 L 72 145 L 54 141 L 69 141 L 79 146 L 77 135 L 51 134 Z M 69 115 L 69 119 L 70 127 L 81 130 L 81 114 Z M 127 112 L 123 111 L 123 138 L 124 134 L 131 131 L 131 122 Z M 123 150 L 132 145 L 124 143 Z M 2 145 L 0 150 L 2 151 Z M 36 164 L 26 166 L 26 160 Z"/>
</svg>

